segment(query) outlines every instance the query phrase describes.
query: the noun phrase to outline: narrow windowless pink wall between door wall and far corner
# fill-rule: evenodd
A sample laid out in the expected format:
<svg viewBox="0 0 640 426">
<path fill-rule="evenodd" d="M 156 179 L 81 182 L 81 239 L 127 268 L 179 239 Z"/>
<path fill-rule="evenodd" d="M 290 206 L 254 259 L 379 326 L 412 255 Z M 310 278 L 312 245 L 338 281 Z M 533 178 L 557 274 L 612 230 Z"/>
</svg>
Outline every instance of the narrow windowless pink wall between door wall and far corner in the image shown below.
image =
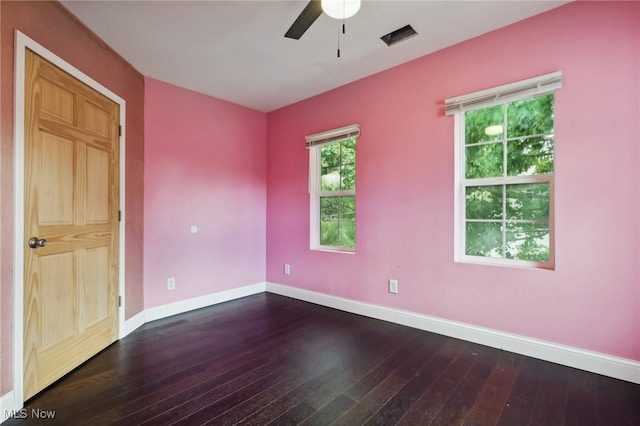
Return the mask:
<svg viewBox="0 0 640 426">
<path fill-rule="evenodd" d="M 264 282 L 266 114 L 145 82 L 145 308 Z"/>
</svg>

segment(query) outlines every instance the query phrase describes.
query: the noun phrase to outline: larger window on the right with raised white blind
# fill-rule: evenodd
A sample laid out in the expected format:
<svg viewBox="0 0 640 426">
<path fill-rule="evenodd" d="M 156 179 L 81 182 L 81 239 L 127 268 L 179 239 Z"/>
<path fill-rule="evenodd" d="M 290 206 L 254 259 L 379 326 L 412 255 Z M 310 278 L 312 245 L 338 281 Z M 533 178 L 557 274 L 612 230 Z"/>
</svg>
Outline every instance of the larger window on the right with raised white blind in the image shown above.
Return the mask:
<svg viewBox="0 0 640 426">
<path fill-rule="evenodd" d="M 456 122 L 456 260 L 553 268 L 561 73 L 447 100 Z"/>
</svg>

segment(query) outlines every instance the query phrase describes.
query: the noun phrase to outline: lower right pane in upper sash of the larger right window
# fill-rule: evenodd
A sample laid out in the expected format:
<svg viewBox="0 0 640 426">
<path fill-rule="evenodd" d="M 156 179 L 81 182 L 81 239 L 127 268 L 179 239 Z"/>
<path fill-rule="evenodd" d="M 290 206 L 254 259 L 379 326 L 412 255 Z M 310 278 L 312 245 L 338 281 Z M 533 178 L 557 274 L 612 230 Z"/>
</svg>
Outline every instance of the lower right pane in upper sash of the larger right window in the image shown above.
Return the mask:
<svg viewBox="0 0 640 426">
<path fill-rule="evenodd" d="M 553 173 L 553 136 L 523 138 L 507 143 L 507 175 Z"/>
</svg>

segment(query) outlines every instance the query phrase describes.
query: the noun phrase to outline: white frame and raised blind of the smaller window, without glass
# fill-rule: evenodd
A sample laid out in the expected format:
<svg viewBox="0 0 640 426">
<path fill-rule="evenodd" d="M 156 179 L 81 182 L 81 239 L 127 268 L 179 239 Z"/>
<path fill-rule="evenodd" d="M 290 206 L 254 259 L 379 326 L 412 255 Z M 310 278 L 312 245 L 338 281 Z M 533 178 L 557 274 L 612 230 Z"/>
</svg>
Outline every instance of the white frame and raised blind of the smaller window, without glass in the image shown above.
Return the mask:
<svg viewBox="0 0 640 426">
<path fill-rule="evenodd" d="M 320 190 L 320 150 L 322 145 L 328 143 L 339 143 L 349 139 L 356 139 L 360 136 L 360 126 L 354 124 L 351 126 L 341 127 L 339 129 L 329 130 L 322 133 L 316 133 L 307 136 L 307 149 L 309 150 L 309 201 L 310 201 L 310 218 L 309 218 L 309 248 L 311 250 L 330 251 L 337 253 L 355 254 L 356 247 L 327 246 L 320 244 L 320 198 L 323 196 L 353 196 L 356 197 L 356 189 L 323 192 Z M 356 151 L 357 151 L 356 141 Z M 356 154 L 357 163 L 357 154 Z M 357 166 L 356 166 L 357 168 Z M 357 204 L 357 201 L 356 201 Z M 357 226 L 357 221 L 356 221 Z M 357 240 L 357 231 L 356 231 Z M 356 244 L 357 246 L 357 244 Z"/>
</svg>

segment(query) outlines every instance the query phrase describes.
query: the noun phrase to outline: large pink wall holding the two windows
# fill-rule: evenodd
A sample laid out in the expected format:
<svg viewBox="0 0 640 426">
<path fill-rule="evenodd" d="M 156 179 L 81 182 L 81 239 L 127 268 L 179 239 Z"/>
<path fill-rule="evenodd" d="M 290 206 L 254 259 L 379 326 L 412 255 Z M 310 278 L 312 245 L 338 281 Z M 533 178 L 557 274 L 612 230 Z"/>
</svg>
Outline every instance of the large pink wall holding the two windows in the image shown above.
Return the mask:
<svg viewBox="0 0 640 426">
<path fill-rule="evenodd" d="M 640 360 L 639 23 L 572 3 L 270 113 L 267 279 Z M 443 100 L 557 70 L 556 269 L 454 263 Z M 352 123 L 357 254 L 310 251 L 304 136 Z"/>
</svg>

